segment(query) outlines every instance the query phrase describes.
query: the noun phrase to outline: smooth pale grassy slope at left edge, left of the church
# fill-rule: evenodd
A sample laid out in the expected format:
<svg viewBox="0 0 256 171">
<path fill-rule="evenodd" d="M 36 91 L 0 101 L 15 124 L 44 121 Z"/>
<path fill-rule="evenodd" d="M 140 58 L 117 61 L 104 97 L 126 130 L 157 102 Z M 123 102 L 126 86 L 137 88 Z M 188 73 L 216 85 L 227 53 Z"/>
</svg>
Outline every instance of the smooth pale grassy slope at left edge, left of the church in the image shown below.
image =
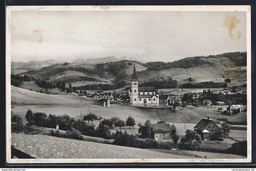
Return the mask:
<svg viewBox="0 0 256 171">
<path fill-rule="evenodd" d="M 12 104 L 92 104 L 94 99 L 74 95 L 46 95 L 11 85 Z"/>
</svg>

